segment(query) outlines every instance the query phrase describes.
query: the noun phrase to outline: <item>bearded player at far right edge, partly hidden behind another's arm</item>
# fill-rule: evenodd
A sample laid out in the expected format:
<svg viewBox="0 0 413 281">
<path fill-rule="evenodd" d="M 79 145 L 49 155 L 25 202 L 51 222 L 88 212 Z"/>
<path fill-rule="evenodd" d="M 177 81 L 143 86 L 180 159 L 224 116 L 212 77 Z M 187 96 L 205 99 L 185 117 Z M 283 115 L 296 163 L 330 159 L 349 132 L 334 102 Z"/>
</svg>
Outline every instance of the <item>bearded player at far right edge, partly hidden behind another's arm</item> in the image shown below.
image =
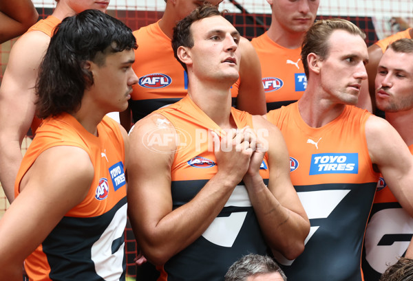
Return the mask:
<svg viewBox="0 0 413 281">
<path fill-rule="evenodd" d="M 376 76 L 377 108 L 399 132 L 413 153 L 413 40 L 388 45 Z M 383 178 L 377 186 L 366 230 L 363 272 L 366 281 L 378 281 L 388 265 L 403 256 L 413 235 L 413 219 L 401 208 Z"/>
</svg>

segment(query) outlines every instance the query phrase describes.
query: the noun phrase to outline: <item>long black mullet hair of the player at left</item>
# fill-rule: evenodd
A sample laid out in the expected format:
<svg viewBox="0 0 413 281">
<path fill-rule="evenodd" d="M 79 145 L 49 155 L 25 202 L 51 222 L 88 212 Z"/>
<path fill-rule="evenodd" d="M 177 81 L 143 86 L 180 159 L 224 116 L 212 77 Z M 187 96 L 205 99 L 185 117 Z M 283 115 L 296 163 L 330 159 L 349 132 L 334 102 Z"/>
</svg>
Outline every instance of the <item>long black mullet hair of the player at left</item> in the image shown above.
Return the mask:
<svg viewBox="0 0 413 281">
<path fill-rule="evenodd" d="M 54 30 L 39 68 L 37 115 L 45 118 L 78 111 L 85 89 L 94 84 L 85 62 L 105 65 L 107 54 L 136 47 L 129 27 L 98 10 L 85 10 L 63 19 Z"/>
</svg>

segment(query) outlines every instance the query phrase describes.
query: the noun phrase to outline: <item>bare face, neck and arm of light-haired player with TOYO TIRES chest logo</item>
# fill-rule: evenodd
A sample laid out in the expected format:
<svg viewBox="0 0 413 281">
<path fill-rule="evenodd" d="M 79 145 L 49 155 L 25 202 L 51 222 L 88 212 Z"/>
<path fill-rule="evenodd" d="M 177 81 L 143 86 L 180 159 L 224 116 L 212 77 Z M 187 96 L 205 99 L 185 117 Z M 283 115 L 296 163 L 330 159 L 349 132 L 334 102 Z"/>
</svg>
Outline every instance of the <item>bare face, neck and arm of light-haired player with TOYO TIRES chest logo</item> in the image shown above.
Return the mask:
<svg viewBox="0 0 413 281">
<path fill-rule="evenodd" d="M 336 30 L 328 41 L 329 52 L 324 60 L 313 53 L 307 57 L 308 87 L 299 100 L 304 121 L 316 128 L 338 117 L 346 104 L 356 104 L 359 85 L 367 79 L 368 50 L 360 36 Z M 347 43 L 346 47 L 342 42 Z M 405 142 L 389 122 L 374 115 L 366 122 L 366 142 L 372 163 L 402 207 L 413 215 L 413 157 Z"/>
</svg>

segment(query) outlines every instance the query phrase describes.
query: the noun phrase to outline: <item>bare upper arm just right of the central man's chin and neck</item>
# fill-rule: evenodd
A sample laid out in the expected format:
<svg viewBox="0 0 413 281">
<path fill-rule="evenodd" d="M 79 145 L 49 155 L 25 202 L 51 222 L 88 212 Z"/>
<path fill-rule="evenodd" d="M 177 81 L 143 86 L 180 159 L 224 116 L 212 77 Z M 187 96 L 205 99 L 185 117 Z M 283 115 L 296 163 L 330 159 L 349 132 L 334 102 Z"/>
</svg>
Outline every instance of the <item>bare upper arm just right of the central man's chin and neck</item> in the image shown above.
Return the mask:
<svg viewBox="0 0 413 281">
<path fill-rule="evenodd" d="M 254 115 L 264 115 L 266 113 L 266 100 L 262 85 L 260 58 L 258 58 L 251 42 L 244 37 L 241 38 L 240 49 L 242 54 L 240 84 L 237 89 L 237 109 Z"/>
</svg>

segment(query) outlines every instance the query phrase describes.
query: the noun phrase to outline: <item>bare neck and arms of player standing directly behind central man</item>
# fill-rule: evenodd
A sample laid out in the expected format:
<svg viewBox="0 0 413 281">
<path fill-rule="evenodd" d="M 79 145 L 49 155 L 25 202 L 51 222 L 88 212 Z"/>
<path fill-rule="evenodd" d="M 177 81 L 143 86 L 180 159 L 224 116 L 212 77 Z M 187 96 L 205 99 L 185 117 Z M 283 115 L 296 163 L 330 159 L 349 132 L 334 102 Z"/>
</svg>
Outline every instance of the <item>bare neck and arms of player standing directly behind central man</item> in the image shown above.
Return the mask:
<svg viewBox="0 0 413 281">
<path fill-rule="evenodd" d="M 178 21 L 184 19 L 195 8 L 204 3 L 218 6 L 222 0 L 168 0 L 165 12 L 159 22 L 160 29 L 169 38 L 173 36 L 173 27 Z M 242 64 L 240 76 L 242 80 L 237 92 L 237 109 L 251 114 L 263 115 L 266 113 L 264 86 L 261 82 L 261 65 L 257 53 L 251 42 L 246 38 L 240 39 L 242 49 Z M 131 111 L 120 113 L 120 124 L 127 131 L 131 128 Z"/>
</svg>

